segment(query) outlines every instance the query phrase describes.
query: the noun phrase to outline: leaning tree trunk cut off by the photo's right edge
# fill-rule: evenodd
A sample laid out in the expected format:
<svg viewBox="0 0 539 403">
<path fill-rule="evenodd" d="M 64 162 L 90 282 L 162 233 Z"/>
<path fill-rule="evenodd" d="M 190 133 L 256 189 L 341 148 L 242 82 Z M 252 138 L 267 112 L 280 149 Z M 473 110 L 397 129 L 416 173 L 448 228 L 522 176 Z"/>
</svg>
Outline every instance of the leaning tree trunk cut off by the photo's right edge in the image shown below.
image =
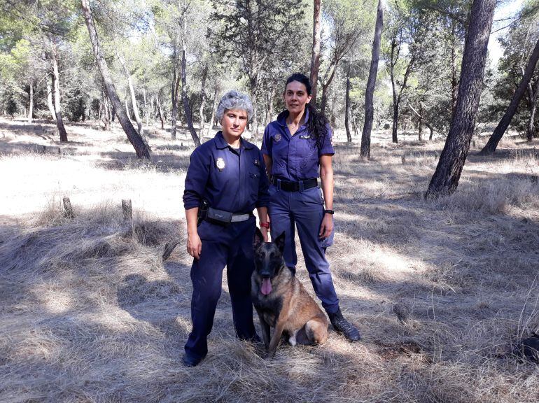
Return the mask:
<svg viewBox="0 0 539 403">
<path fill-rule="evenodd" d="M 496 147 L 498 147 L 498 143 L 500 142 L 503 134 L 505 133 L 505 130 L 509 126 L 514 113 L 517 112 L 517 108 L 520 104 L 520 99 L 522 98 L 522 95 L 524 95 L 524 92 L 526 92 L 526 88 L 528 87 L 528 83 L 533 76 L 535 64 L 537 64 L 538 59 L 539 40 L 537 41 L 537 43 L 535 43 L 535 48 L 533 48 L 533 52 L 531 53 L 530 59 L 528 60 L 528 65 L 526 66 L 526 71 L 524 71 L 524 75 L 520 80 L 519 87 L 514 92 L 513 97 L 511 98 L 511 103 L 507 107 L 507 111 L 505 111 L 503 118 L 501 118 L 500 122 L 498 123 L 498 126 L 496 126 L 496 129 L 494 129 L 492 136 L 490 137 L 489 141 L 486 142 L 479 155 L 493 154 L 496 151 Z"/>
</svg>

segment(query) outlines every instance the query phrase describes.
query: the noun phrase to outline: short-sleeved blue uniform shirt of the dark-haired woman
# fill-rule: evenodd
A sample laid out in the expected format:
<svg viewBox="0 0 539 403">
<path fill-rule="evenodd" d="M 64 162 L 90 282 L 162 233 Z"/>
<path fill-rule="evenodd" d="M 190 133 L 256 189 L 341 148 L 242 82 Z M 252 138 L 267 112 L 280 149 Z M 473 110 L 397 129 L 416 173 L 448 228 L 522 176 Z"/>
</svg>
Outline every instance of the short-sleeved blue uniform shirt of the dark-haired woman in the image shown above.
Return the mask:
<svg viewBox="0 0 539 403">
<path fill-rule="evenodd" d="M 264 131 L 262 154 L 272 158 L 272 176 L 285 181 L 304 181 L 318 178 L 321 155 L 333 155 L 335 149 L 331 143 L 332 131 L 330 125 L 328 134 L 321 140 L 320 147 L 316 146 L 314 136 L 303 124 L 293 136 L 286 126 L 288 111 L 277 116 L 277 120 L 269 123 Z M 305 122 L 309 120 L 309 109 L 305 108 Z"/>
</svg>

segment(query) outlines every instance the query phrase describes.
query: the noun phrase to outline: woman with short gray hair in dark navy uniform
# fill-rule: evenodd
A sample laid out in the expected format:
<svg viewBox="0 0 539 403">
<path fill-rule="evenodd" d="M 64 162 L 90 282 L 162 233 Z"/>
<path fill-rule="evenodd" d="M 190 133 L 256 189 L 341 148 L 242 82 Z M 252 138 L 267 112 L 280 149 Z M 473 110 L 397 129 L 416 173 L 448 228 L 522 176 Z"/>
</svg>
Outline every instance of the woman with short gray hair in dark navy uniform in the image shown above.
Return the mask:
<svg viewBox="0 0 539 403">
<path fill-rule="evenodd" d="M 260 150 L 241 138 L 253 114 L 245 94 L 229 91 L 217 108 L 222 130 L 191 154 L 183 192 L 186 208 L 187 251 L 193 256 L 191 319 L 183 355 L 187 367 L 208 353 L 207 337 L 214 323 L 223 269 L 232 301 L 232 316 L 239 339 L 260 341 L 253 324 L 251 274 L 254 208 L 267 241 L 269 183 Z"/>
</svg>

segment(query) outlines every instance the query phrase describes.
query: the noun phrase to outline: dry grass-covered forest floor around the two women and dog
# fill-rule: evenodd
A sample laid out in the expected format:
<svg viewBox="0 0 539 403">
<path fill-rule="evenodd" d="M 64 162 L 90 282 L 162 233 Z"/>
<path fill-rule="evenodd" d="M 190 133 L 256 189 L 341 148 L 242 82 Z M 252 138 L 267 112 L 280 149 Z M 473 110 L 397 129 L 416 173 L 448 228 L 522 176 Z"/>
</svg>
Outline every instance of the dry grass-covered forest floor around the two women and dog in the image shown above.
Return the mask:
<svg viewBox="0 0 539 403">
<path fill-rule="evenodd" d="M 2 402 L 539 401 L 539 367 L 511 347 L 539 327 L 538 141 L 479 157 L 476 139 L 458 192 L 435 201 L 443 139 L 378 132 L 370 161 L 337 141 L 328 260 L 363 339 L 264 360 L 235 339 L 223 282 L 209 354 L 188 369 L 188 132 L 151 129 L 138 162 L 119 127 L 66 128 L 59 143 L 50 123 L 0 120 Z M 297 276 L 312 292 L 301 255 Z"/>
</svg>

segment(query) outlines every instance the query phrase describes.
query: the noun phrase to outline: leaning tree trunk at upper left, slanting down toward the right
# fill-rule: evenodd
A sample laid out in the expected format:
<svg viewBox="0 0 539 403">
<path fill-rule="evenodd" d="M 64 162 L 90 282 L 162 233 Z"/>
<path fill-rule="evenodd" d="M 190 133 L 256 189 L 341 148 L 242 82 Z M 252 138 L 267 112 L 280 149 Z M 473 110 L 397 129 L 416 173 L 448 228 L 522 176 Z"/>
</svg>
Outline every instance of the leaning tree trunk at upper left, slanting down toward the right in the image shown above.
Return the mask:
<svg viewBox="0 0 539 403">
<path fill-rule="evenodd" d="M 131 142 L 137 157 L 139 158 L 150 158 L 150 147 L 148 143 L 137 133 L 134 129 L 131 121 L 127 115 L 123 112 L 122 102 L 118 98 L 116 92 L 116 87 L 109 73 L 109 66 L 107 66 L 105 57 L 99 46 L 99 40 L 97 38 L 97 30 L 95 29 L 94 19 L 92 17 L 92 11 L 90 10 L 90 0 L 80 0 L 83 8 L 84 19 L 86 21 L 86 27 L 88 29 L 88 34 L 90 34 L 90 41 L 92 42 L 92 48 L 94 49 L 95 59 L 97 61 L 97 66 L 103 77 L 106 94 L 113 104 L 114 111 L 120 120 L 120 125 L 122 125 L 123 131 L 127 135 L 127 139 Z"/>
</svg>

